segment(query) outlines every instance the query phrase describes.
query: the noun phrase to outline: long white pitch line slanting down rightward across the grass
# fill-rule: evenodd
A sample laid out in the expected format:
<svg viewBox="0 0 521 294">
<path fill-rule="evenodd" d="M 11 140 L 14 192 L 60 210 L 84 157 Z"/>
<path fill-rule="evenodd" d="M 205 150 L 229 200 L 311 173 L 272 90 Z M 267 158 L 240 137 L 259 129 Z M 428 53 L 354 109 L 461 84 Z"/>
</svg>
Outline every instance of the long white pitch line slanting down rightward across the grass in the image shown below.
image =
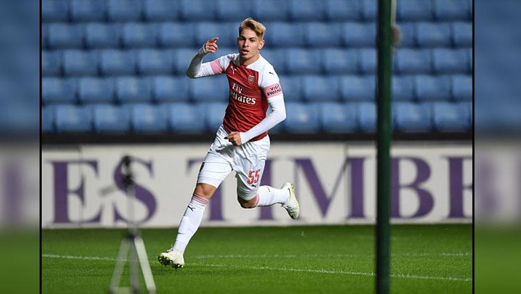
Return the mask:
<svg viewBox="0 0 521 294">
<path fill-rule="evenodd" d="M 57 254 L 42 254 L 42 257 L 53 258 L 53 259 L 82 259 L 82 260 L 96 260 L 96 261 L 115 261 L 113 257 L 100 257 L 100 256 L 73 256 L 73 255 L 57 255 Z M 155 261 L 152 259 L 150 261 Z M 374 272 L 352 272 L 345 270 L 313 270 L 313 269 L 301 269 L 301 268 L 270 268 L 266 266 L 233 266 L 223 264 L 212 264 L 212 263 L 199 263 L 198 266 L 211 266 L 215 268 L 242 268 L 247 270 L 282 270 L 286 272 L 309 272 L 319 274 L 335 274 L 335 275 L 354 275 L 354 276 L 365 276 L 374 277 Z M 456 278 L 456 277 L 431 277 L 431 276 L 419 276 L 419 275 L 390 275 L 390 277 L 404 278 L 404 279 L 434 279 L 443 281 L 472 281 L 467 278 Z"/>
</svg>

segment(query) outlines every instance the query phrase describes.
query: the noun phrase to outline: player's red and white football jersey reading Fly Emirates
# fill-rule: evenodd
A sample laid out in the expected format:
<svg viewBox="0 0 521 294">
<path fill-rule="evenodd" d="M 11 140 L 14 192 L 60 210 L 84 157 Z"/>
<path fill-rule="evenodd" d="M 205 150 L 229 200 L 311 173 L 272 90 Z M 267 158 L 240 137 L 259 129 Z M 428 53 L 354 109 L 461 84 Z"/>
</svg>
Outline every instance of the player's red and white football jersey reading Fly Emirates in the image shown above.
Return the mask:
<svg viewBox="0 0 521 294">
<path fill-rule="evenodd" d="M 251 65 L 241 65 L 239 54 L 229 54 L 204 63 L 210 74 L 226 74 L 229 83 L 229 102 L 224 115 L 226 131 L 245 132 L 266 117 L 268 99 L 279 99 L 282 88 L 273 66 L 260 56 Z M 283 97 L 282 95 L 280 97 Z M 267 131 L 252 138 L 264 138 Z"/>
</svg>

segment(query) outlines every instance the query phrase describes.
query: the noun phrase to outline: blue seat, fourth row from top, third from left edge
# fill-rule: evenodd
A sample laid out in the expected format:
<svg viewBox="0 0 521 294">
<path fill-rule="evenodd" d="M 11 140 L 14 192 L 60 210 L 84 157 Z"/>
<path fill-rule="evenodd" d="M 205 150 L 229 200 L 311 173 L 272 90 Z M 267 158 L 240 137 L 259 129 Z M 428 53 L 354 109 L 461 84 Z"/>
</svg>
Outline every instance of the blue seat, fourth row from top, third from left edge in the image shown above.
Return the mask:
<svg viewBox="0 0 521 294">
<path fill-rule="evenodd" d="M 116 79 L 116 97 L 121 103 L 151 101 L 151 87 L 148 79 L 122 76 Z"/>
</svg>

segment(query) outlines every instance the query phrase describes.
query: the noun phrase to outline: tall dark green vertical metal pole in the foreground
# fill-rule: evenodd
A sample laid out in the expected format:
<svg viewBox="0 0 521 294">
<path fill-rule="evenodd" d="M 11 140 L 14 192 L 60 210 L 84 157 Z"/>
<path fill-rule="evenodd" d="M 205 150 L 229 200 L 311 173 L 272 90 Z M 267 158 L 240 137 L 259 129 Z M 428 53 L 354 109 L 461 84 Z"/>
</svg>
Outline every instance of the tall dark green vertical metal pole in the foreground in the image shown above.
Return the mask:
<svg viewBox="0 0 521 294">
<path fill-rule="evenodd" d="M 377 294 L 389 293 L 391 1 L 378 1 Z"/>
</svg>

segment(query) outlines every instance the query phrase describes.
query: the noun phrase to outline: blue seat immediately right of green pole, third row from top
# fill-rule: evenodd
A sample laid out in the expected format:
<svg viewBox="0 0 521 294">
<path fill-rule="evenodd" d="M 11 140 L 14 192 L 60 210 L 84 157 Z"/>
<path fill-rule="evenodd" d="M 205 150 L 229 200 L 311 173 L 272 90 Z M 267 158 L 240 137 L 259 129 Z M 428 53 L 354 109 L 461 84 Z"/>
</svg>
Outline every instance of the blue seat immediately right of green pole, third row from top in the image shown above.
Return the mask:
<svg viewBox="0 0 521 294">
<path fill-rule="evenodd" d="M 429 49 L 398 49 L 394 60 L 395 72 L 421 74 L 431 72 L 432 56 Z"/>
</svg>

